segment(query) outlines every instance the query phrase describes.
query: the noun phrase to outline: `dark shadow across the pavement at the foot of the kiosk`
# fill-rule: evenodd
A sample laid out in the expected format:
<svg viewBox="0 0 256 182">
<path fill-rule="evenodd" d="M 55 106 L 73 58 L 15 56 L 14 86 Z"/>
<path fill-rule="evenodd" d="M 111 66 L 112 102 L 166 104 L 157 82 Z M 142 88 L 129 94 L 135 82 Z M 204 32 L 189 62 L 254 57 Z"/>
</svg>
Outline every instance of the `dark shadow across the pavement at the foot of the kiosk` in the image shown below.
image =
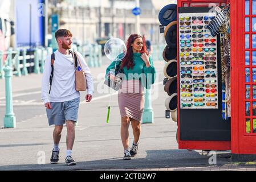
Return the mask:
<svg viewBox="0 0 256 182">
<path fill-rule="evenodd" d="M 187 150 L 149 150 L 146 158 L 140 158 L 138 154 L 132 160 L 109 158 L 78 162 L 76 166 L 59 164 L 26 164 L 0 166 L 0 170 L 103 170 L 103 169 L 152 169 L 152 168 L 178 168 L 178 167 L 209 167 L 209 157 L 201 155 L 197 151 Z M 229 163 L 230 153 L 217 155 L 217 166 Z M 48 161 L 47 161 L 48 162 Z"/>
</svg>

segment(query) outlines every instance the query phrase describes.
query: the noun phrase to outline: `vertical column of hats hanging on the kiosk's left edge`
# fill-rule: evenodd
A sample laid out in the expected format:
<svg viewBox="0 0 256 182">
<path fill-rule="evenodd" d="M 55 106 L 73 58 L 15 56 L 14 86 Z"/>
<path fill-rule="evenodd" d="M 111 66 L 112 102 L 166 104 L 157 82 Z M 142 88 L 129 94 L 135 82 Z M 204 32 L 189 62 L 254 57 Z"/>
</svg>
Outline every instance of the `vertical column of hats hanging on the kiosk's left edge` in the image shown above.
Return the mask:
<svg viewBox="0 0 256 182">
<path fill-rule="evenodd" d="M 162 52 L 162 57 L 167 62 L 164 67 L 164 90 L 169 96 L 165 100 L 165 106 L 171 112 L 172 120 L 177 122 L 177 5 L 163 7 L 159 13 L 159 22 L 165 27 L 162 32 L 167 44 Z"/>
</svg>

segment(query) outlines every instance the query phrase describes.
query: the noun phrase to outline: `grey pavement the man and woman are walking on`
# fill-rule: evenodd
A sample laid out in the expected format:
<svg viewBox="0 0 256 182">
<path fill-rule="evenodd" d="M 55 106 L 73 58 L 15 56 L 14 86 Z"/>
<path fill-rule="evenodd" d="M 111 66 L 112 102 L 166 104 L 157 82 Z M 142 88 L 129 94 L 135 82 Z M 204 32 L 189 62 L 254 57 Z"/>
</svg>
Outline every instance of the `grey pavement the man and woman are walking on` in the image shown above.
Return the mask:
<svg viewBox="0 0 256 182">
<path fill-rule="evenodd" d="M 177 123 L 165 118 L 162 69 L 165 61 L 155 61 L 159 73 L 152 90 L 153 123 L 143 123 L 139 152 L 132 160 L 123 160 L 120 139 L 120 113 L 117 93 L 112 93 L 109 123 L 106 123 L 109 92 L 103 92 L 102 76 L 109 61 L 104 59 L 100 68 L 91 68 L 95 83 L 94 98 L 84 102 L 81 94 L 79 120 L 72 156 L 78 163 L 66 166 L 66 128 L 60 140 L 59 164 L 50 164 L 52 131 L 48 126 L 46 109 L 40 100 L 42 74 L 13 77 L 14 113 L 17 127 L 0 129 L 0 170 L 256 170 L 256 163 L 230 162 L 230 151 L 217 151 L 214 165 L 205 151 L 179 150 L 176 142 Z M 5 115 L 5 80 L 0 80 L 0 126 Z M 157 91 L 158 90 L 158 91 Z M 132 129 L 129 128 L 130 144 Z"/>
</svg>

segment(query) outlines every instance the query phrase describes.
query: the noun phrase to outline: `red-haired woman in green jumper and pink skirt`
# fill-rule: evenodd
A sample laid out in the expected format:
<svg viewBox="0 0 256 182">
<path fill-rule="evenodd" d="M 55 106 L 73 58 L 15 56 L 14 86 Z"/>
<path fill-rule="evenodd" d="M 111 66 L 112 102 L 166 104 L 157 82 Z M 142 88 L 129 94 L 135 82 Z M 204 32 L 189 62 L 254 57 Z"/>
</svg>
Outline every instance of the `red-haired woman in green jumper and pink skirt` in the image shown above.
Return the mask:
<svg viewBox="0 0 256 182">
<path fill-rule="evenodd" d="M 140 35 L 132 34 L 127 40 L 127 54 L 117 66 L 123 69 L 124 80 L 118 94 L 121 114 L 121 140 L 124 147 L 124 160 L 131 159 L 138 150 L 141 133 L 141 116 L 144 110 L 144 88 L 149 89 L 155 82 L 156 69 L 149 57 L 145 41 Z M 107 76 L 116 80 L 113 75 L 115 61 L 107 68 Z M 112 71 L 111 71 L 112 70 Z M 129 150 L 129 123 L 132 122 L 134 140 Z"/>
</svg>

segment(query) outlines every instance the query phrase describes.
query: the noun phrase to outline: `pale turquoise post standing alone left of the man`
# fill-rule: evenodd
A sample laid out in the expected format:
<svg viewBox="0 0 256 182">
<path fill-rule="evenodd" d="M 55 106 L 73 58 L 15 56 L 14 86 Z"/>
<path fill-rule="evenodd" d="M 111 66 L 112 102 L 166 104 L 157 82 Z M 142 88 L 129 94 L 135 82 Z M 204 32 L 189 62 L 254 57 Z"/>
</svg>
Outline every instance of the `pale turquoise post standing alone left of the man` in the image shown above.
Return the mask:
<svg viewBox="0 0 256 182">
<path fill-rule="evenodd" d="M 13 113 L 13 94 L 11 88 L 12 68 L 8 65 L 3 68 L 5 71 L 5 93 L 6 93 L 6 112 L 3 119 L 3 127 L 16 127 L 16 117 Z"/>
</svg>

